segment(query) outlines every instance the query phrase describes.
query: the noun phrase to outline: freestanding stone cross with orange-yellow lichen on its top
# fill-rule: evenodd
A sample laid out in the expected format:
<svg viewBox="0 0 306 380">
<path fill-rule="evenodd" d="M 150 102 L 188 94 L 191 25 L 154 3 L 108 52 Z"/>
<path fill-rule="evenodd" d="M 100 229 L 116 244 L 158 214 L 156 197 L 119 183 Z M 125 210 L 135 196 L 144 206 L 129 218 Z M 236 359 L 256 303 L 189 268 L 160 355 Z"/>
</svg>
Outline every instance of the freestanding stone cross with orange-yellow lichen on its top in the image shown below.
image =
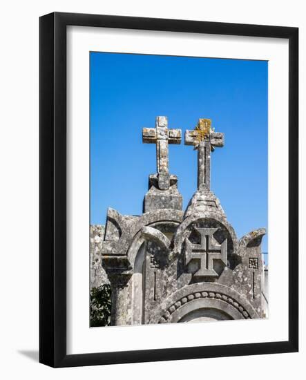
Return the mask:
<svg viewBox="0 0 306 380">
<path fill-rule="evenodd" d="M 210 119 L 199 119 L 193 131 L 185 132 L 185 145 L 198 149 L 198 190 L 210 190 L 211 151 L 224 146 L 224 133 L 213 131 Z"/>
</svg>

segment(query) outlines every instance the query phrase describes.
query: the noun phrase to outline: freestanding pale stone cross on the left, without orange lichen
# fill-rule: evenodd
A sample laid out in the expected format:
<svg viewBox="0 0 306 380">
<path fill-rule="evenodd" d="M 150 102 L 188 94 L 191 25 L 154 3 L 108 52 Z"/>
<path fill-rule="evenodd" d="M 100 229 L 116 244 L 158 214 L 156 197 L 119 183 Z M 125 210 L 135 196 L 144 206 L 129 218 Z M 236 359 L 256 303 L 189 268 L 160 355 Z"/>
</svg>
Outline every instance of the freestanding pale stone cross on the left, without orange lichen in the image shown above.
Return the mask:
<svg viewBox="0 0 306 380">
<path fill-rule="evenodd" d="M 142 129 L 142 142 L 156 144 L 158 186 L 161 190 L 170 187 L 168 144 L 180 144 L 181 129 L 168 129 L 166 116 L 157 116 L 155 128 Z"/>
</svg>

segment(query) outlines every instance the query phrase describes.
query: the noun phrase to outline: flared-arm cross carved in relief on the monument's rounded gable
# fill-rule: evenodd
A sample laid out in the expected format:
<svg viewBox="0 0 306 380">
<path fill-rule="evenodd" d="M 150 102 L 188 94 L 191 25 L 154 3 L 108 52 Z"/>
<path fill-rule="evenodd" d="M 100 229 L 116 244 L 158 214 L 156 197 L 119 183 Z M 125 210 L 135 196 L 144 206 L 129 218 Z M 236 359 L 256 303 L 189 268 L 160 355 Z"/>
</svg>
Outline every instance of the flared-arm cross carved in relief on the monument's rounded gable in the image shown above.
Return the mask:
<svg viewBox="0 0 306 380">
<path fill-rule="evenodd" d="M 195 227 L 194 227 L 195 228 Z M 193 276 L 218 277 L 218 273 L 213 269 L 213 260 L 220 259 L 227 265 L 227 239 L 221 245 L 213 245 L 213 234 L 218 228 L 195 228 L 201 236 L 200 245 L 191 244 L 186 239 L 185 264 L 188 265 L 193 258 L 200 259 L 200 268 Z"/>
</svg>

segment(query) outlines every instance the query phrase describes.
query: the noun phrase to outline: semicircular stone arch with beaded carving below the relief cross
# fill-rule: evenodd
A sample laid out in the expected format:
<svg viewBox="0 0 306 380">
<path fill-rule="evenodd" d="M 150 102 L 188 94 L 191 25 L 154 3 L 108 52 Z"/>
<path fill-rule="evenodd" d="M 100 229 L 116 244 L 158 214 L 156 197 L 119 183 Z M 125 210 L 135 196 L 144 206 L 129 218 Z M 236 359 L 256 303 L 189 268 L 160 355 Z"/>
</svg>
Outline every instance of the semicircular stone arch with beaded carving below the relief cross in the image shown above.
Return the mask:
<svg viewBox="0 0 306 380">
<path fill-rule="evenodd" d="M 217 310 L 228 319 L 259 318 L 254 307 L 238 292 L 218 283 L 195 283 L 179 289 L 155 310 L 149 323 L 173 323 L 195 310 Z"/>
</svg>

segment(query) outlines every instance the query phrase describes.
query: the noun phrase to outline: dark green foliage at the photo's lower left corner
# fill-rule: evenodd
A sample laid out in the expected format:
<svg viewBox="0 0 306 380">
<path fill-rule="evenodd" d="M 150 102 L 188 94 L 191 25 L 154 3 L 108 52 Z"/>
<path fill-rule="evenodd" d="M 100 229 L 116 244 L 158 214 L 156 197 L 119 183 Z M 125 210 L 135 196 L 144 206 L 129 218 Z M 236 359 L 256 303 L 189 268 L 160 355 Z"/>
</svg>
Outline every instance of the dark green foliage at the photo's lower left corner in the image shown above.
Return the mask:
<svg viewBox="0 0 306 380">
<path fill-rule="evenodd" d="M 90 292 L 90 327 L 111 324 L 111 286 L 93 287 Z"/>
</svg>

